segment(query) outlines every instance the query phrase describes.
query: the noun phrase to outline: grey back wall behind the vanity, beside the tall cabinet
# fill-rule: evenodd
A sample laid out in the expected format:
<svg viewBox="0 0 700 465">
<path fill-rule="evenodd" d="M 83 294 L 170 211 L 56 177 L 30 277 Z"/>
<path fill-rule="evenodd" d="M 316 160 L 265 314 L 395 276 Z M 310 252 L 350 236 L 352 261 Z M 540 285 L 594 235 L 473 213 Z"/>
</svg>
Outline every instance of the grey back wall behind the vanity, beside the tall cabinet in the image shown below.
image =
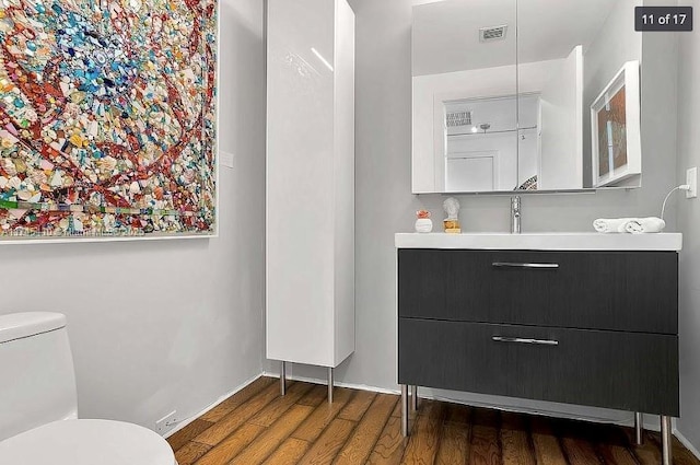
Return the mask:
<svg viewBox="0 0 700 465">
<path fill-rule="evenodd" d="M 410 0 L 352 0 L 357 14 L 357 184 L 355 184 L 355 353 L 337 370 L 338 382 L 397 390 L 396 382 L 396 251 L 394 233 L 413 229 L 416 210 L 432 211 L 435 224 L 443 218 L 441 195 L 411 195 L 411 62 Z M 644 107 L 654 118 L 675 125 L 676 106 L 668 101 L 675 85 L 664 80 L 665 60 L 655 58 L 643 71 L 650 89 Z M 673 67 L 672 67 L 673 68 Z M 675 80 L 673 80 L 675 82 Z M 648 112 L 652 113 L 652 112 Z M 650 116 L 651 118 L 651 116 Z M 643 187 L 635 190 L 590 195 L 533 195 L 523 198 L 523 231 L 593 231 L 600 217 L 658 214 L 661 201 L 676 183 L 675 135 L 665 125 L 648 127 L 644 146 Z M 655 119 L 653 123 L 657 123 Z M 672 131 L 673 132 L 673 131 Z M 656 144 L 652 141 L 657 140 Z M 663 150 L 658 144 L 663 146 Z M 462 228 L 466 232 L 508 231 L 508 196 L 459 196 Z M 667 213 L 668 231 L 675 230 L 674 211 Z M 277 364 L 267 365 L 277 371 Z M 323 370 L 293 367 L 295 376 L 324 379 Z M 421 392 L 423 392 L 421 390 Z M 424 393 L 428 393 L 425 391 Z M 544 409 L 558 415 L 631 421 L 631 414 L 532 403 L 489 396 L 440 393 L 469 402 Z"/>
</svg>

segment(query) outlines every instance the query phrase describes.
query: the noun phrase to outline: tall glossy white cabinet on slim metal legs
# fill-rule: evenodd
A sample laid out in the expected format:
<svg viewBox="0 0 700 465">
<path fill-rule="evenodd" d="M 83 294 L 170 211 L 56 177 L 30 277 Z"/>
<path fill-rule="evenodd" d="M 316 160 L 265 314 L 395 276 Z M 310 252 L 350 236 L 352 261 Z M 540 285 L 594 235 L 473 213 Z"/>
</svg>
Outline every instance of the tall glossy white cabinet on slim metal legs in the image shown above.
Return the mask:
<svg viewBox="0 0 700 465">
<path fill-rule="evenodd" d="M 268 0 L 267 358 L 332 369 L 354 351 L 354 13 Z"/>
</svg>

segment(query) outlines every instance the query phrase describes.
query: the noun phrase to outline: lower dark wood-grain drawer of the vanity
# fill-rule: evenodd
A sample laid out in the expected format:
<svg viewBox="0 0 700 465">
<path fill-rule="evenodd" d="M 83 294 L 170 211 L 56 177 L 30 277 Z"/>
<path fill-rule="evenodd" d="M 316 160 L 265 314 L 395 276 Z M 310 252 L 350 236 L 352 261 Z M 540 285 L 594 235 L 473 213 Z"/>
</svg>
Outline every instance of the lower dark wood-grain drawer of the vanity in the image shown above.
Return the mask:
<svg viewBox="0 0 700 465">
<path fill-rule="evenodd" d="M 678 416 L 678 338 L 399 318 L 398 382 Z"/>
</svg>

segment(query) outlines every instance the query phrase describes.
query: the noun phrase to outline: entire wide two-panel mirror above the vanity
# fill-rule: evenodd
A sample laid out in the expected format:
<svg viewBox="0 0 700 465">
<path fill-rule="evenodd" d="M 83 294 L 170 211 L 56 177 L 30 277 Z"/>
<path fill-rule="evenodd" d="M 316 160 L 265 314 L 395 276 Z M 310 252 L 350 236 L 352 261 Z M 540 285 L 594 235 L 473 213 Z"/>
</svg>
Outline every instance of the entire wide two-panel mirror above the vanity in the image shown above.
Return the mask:
<svg viewBox="0 0 700 465">
<path fill-rule="evenodd" d="M 638 187 L 641 0 L 415 0 L 412 191 Z"/>
</svg>

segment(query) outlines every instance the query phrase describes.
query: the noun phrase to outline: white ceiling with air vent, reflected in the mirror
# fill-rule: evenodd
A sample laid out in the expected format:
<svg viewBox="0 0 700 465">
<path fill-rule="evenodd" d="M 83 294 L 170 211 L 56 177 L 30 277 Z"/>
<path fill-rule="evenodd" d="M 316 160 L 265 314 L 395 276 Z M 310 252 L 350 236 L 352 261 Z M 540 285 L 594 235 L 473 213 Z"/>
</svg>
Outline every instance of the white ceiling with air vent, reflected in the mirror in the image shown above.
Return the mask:
<svg viewBox="0 0 700 465">
<path fill-rule="evenodd" d="M 563 58 L 584 50 L 619 0 L 412 0 L 413 75 Z M 631 14 L 631 13 L 630 13 Z M 508 24 L 504 40 L 479 28 Z"/>
</svg>

